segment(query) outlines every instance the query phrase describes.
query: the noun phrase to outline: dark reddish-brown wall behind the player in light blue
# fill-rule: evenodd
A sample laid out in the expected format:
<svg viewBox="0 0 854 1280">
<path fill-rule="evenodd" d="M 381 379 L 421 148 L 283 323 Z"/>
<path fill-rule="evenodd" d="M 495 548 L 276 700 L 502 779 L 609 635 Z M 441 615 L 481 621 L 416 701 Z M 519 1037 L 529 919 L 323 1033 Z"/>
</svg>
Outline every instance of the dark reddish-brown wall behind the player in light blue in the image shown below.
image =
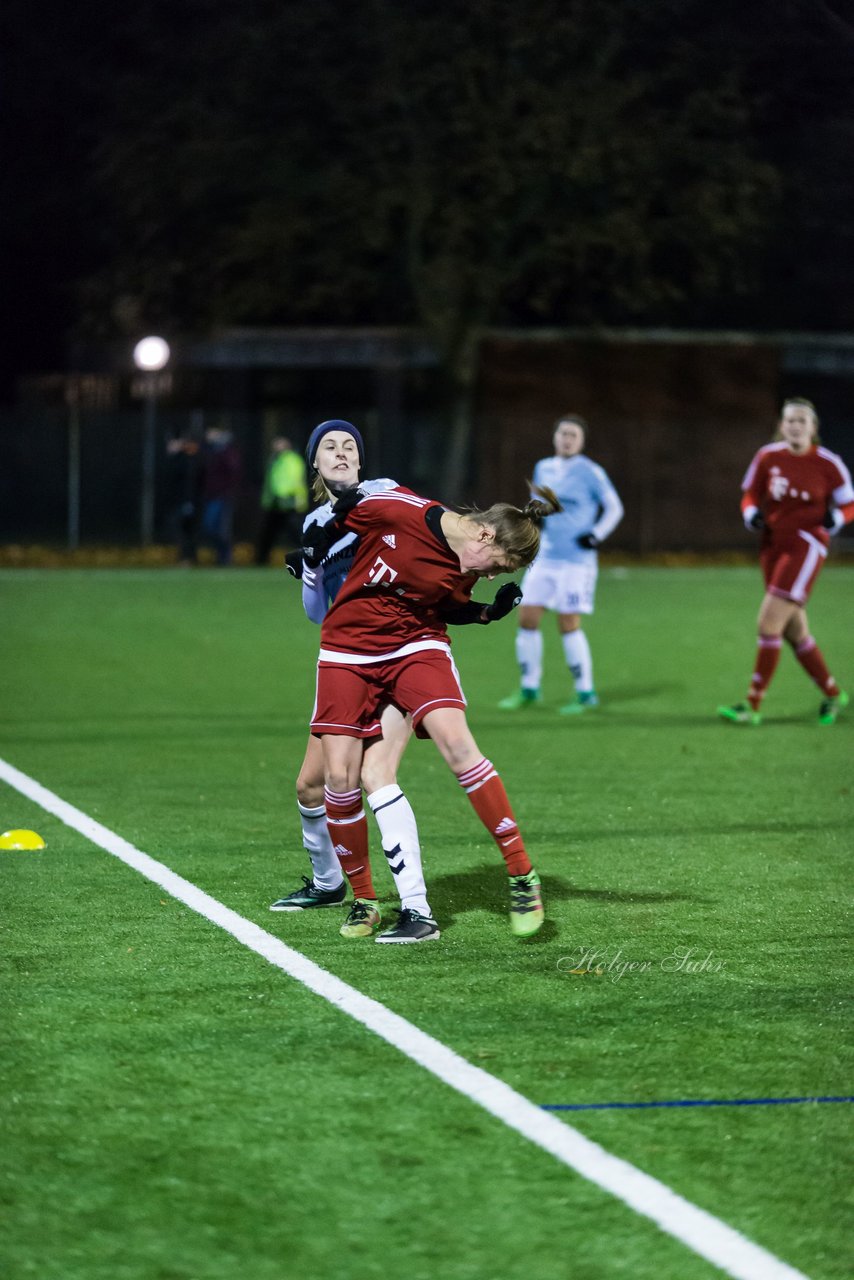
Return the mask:
<svg viewBox="0 0 854 1280">
<path fill-rule="evenodd" d="M 745 343 L 489 339 L 475 422 L 472 500 L 519 500 L 565 412 L 626 508 L 609 545 L 631 552 L 753 547 L 740 481 L 773 434 L 778 352 Z"/>
</svg>

